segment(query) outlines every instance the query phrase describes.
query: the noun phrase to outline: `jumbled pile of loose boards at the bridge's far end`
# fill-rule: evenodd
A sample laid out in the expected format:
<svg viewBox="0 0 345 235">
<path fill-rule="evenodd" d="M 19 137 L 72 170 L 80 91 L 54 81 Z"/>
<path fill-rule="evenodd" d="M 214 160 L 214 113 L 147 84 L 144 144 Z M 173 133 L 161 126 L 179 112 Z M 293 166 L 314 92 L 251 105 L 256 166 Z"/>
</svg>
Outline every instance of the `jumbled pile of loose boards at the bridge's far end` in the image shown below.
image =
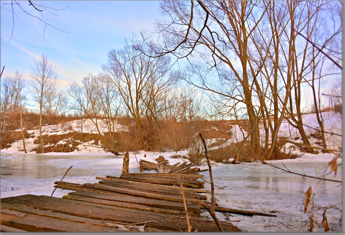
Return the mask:
<svg viewBox="0 0 345 235">
<path fill-rule="evenodd" d="M 164 159 L 163 156 L 159 156 L 155 159 L 157 163 L 140 159 L 139 169 L 140 172 L 144 170 L 157 170 L 158 173 L 169 173 L 169 174 L 197 174 L 206 170 L 200 170 L 200 168 L 193 167 L 193 163 L 187 164 L 186 161 L 183 163 L 176 163 L 175 165 L 168 165 L 169 160 Z"/>
</svg>

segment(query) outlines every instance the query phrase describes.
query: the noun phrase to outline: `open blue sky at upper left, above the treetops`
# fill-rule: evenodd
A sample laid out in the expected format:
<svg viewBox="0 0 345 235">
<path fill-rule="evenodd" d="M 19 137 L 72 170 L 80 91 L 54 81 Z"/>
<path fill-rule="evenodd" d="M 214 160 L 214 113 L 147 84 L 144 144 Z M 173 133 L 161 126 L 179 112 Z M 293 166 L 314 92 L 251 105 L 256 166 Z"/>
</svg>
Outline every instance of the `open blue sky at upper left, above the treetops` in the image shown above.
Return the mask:
<svg viewBox="0 0 345 235">
<path fill-rule="evenodd" d="M 89 72 L 99 72 L 107 62 L 107 52 L 122 49 L 125 38 L 145 29 L 152 31 L 154 21 L 160 18 L 159 1 L 34 1 L 47 7 L 62 9 L 44 11 L 43 16 L 28 1 L 17 1 L 28 13 L 40 17 L 52 26 L 26 14 L 13 1 L 14 29 L 12 32 L 11 1 L 1 3 L 0 66 L 5 66 L 3 76 L 10 76 L 18 69 L 30 79 L 33 60 L 42 53 L 56 65 L 66 90 L 70 81 L 81 81 Z"/>
</svg>

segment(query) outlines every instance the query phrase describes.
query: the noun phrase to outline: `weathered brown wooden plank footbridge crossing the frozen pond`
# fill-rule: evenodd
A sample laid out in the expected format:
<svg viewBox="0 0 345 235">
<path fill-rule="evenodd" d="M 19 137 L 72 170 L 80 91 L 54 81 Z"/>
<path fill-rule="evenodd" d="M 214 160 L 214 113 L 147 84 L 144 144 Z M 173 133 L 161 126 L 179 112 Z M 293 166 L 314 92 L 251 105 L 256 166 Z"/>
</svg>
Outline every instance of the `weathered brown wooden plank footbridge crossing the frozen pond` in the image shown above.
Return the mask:
<svg viewBox="0 0 345 235">
<path fill-rule="evenodd" d="M 186 232 L 181 179 L 192 231 L 218 232 L 214 221 L 200 218 L 200 202 L 210 193 L 199 174 L 122 173 L 96 177 L 98 183 L 55 182 L 68 189 L 62 198 L 21 195 L 1 198 L 2 232 Z M 215 206 L 216 211 L 274 216 Z M 224 232 L 241 232 L 221 222 Z"/>
</svg>

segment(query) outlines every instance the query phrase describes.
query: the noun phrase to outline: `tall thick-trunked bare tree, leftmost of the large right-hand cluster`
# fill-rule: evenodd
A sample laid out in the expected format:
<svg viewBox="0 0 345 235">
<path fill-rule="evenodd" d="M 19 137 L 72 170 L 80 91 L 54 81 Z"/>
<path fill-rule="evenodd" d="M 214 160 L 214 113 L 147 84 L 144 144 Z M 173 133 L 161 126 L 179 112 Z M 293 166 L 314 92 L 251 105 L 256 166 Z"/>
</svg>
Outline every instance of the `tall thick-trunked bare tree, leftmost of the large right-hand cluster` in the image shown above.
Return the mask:
<svg viewBox="0 0 345 235">
<path fill-rule="evenodd" d="M 198 57 L 204 61 L 206 74 L 221 66 L 231 71 L 243 89 L 250 122 L 250 151 L 254 155 L 260 151 L 259 118 L 252 101 L 257 71 L 250 66 L 248 40 L 267 10 L 256 9 L 256 3 L 249 1 L 164 1 L 161 10 L 170 19 L 157 23 L 158 43 L 152 45 L 142 33 L 143 40 L 158 56 L 170 53 L 178 58 Z M 250 15 L 255 16 L 256 23 Z M 199 88 L 229 97 L 208 87 L 205 79 L 200 84 Z"/>
</svg>

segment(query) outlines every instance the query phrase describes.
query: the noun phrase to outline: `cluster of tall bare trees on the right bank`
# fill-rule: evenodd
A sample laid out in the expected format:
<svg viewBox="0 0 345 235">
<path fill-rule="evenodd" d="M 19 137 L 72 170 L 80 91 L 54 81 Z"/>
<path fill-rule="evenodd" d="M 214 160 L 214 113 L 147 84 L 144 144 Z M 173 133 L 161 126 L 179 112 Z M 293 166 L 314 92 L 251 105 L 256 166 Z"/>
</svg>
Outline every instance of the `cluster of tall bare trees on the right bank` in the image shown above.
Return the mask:
<svg viewBox="0 0 345 235">
<path fill-rule="evenodd" d="M 341 73 L 325 56 L 342 59 L 341 2 L 162 1 L 160 7 L 167 17 L 156 23 L 159 39 L 142 32 L 144 45 L 158 56 L 187 58 L 180 78 L 216 97 L 219 113 L 245 114 L 251 155 L 262 154 L 262 123 L 264 151 L 274 157 L 283 120 L 291 120 L 306 151 L 314 152 L 304 130 L 303 89 L 312 87 L 319 111 L 322 79 Z"/>
</svg>

